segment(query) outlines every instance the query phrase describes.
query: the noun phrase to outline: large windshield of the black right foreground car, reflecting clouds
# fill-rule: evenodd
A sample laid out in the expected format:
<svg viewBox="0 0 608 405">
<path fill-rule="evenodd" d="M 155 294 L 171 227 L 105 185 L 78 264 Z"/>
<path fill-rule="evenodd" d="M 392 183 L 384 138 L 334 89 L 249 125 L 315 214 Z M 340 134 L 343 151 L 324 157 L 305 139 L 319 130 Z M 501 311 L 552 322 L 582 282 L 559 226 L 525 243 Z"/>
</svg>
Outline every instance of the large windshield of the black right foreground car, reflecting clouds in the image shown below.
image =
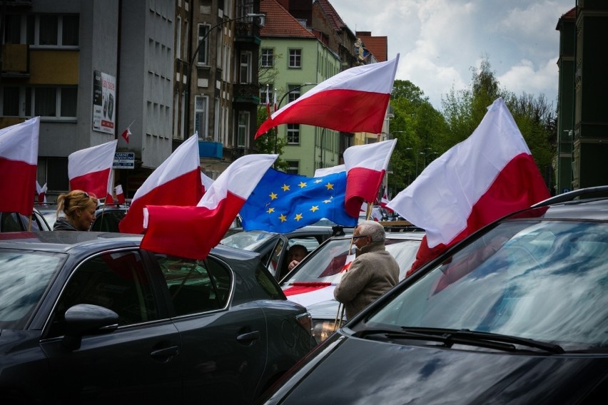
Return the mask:
<svg viewBox="0 0 608 405">
<path fill-rule="evenodd" d="M 607 347 L 607 284 L 605 223 L 504 222 L 393 297 L 365 328 L 470 329 Z"/>
</svg>

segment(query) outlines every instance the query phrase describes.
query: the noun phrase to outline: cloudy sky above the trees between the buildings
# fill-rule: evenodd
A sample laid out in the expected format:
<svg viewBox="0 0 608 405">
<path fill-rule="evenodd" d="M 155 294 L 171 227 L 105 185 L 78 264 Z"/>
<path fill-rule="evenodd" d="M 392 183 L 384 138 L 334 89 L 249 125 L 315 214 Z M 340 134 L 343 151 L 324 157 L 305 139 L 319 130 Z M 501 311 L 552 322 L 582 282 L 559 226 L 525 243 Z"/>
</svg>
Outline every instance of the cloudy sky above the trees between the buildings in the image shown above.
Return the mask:
<svg viewBox="0 0 608 405">
<path fill-rule="evenodd" d="M 544 93 L 557 106 L 562 14 L 575 0 L 330 0 L 354 31 L 387 36 L 388 58 L 400 53 L 396 79 L 418 86 L 437 109 L 441 98 L 470 86 L 487 57 L 507 90 Z"/>
</svg>

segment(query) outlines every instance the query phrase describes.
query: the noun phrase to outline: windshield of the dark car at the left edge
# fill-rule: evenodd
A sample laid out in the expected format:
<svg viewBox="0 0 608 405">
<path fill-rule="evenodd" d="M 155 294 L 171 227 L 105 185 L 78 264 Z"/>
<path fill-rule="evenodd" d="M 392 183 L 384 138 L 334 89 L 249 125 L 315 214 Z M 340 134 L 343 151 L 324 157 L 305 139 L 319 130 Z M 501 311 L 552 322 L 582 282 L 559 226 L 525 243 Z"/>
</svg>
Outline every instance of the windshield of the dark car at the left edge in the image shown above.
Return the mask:
<svg viewBox="0 0 608 405">
<path fill-rule="evenodd" d="M 64 255 L 0 251 L 0 329 L 22 329 Z"/>
</svg>

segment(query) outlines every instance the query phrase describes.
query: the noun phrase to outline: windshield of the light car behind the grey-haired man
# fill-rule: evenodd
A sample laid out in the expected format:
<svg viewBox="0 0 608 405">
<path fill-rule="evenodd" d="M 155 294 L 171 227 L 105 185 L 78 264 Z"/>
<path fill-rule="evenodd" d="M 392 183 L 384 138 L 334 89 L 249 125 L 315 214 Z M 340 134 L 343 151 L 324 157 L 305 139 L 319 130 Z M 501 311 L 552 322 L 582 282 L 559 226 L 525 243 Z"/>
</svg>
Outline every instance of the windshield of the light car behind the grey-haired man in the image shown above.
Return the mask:
<svg viewBox="0 0 608 405">
<path fill-rule="evenodd" d="M 416 252 L 420 246 L 420 240 L 389 239 L 385 241 L 386 250 L 395 257 L 400 268 L 400 279 L 405 277 L 405 272 L 410 270 Z M 342 278 L 343 271 L 348 269 L 350 262 L 355 259 L 355 245 L 351 245 L 350 239 L 329 240 L 283 284 L 294 282 L 329 282 L 338 284 Z"/>
</svg>

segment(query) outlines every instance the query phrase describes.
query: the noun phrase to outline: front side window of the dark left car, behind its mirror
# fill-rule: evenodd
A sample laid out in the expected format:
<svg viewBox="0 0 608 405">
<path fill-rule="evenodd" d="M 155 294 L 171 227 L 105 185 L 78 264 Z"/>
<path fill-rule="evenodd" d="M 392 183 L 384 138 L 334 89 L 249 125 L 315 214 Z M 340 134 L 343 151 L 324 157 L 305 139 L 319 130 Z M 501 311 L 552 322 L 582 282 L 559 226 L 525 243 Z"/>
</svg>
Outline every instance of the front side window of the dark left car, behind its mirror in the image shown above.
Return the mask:
<svg viewBox="0 0 608 405">
<path fill-rule="evenodd" d="M 65 313 L 94 304 L 118 314 L 118 325 L 158 319 L 156 300 L 139 252 L 108 252 L 81 263 L 57 303 L 51 336 L 64 334 Z"/>
</svg>

